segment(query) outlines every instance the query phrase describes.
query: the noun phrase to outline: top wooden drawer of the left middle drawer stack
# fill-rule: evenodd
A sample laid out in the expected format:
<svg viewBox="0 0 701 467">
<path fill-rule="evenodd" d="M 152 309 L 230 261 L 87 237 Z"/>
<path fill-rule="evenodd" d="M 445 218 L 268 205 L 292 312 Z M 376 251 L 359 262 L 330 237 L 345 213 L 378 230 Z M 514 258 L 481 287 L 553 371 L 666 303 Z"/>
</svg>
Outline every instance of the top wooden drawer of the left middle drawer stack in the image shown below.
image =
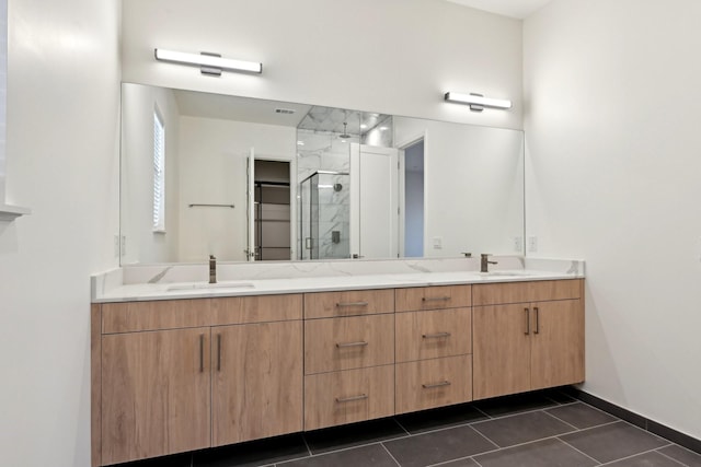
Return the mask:
<svg viewBox="0 0 701 467">
<path fill-rule="evenodd" d="M 394 291 L 352 290 L 304 294 L 304 318 L 371 315 L 394 312 Z"/>
</svg>

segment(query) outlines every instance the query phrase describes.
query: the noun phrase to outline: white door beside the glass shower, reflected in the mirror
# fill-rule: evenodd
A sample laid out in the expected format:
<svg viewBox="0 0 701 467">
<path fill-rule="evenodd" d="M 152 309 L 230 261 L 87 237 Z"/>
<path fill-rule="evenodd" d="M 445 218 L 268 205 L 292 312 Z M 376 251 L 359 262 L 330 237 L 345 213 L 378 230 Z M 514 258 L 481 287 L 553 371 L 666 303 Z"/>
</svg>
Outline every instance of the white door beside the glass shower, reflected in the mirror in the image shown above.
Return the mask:
<svg viewBox="0 0 701 467">
<path fill-rule="evenodd" d="M 350 152 L 352 254 L 399 255 L 398 150 L 359 144 Z"/>
</svg>

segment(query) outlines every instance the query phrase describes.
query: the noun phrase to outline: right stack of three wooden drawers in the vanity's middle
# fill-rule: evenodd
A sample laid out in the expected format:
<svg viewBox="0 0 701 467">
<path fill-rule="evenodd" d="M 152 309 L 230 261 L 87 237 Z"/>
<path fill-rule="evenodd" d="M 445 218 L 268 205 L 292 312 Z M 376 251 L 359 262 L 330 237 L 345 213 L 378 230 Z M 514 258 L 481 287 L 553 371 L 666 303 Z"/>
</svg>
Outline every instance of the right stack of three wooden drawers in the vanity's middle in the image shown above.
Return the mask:
<svg viewBox="0 0 701 467">
<path fill-rule="evenodd" d="M 397 289 L 397 413 L 472 400 L 470 285 Z"/>
</svg>

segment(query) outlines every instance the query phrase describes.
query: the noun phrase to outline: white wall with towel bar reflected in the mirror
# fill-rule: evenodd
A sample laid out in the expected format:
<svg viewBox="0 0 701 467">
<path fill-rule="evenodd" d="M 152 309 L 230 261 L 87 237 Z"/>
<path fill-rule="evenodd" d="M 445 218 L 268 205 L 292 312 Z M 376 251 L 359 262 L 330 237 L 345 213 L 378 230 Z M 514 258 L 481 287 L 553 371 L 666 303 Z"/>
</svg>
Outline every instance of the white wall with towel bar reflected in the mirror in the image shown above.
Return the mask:
<svg viewBox="0 0 701 467">
<path fill-rule="evenodd" d="M 222 261 L 244 261 L 250 150 L 255 149 L 256 159 L 292 162 L 297 129 L 188 116 L 181 117 L 180 127 L 179 261 L 203 262 L 210 254 Z M 235 208 L 189 208 L 191 203 Z"/>
</svg>

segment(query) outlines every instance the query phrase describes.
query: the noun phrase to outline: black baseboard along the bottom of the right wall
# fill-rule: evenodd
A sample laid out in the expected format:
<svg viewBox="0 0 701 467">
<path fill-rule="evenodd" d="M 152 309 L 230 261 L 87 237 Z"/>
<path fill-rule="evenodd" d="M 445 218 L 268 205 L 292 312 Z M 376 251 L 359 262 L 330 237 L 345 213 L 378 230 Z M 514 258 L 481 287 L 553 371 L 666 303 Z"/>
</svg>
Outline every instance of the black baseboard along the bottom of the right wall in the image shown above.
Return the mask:
<svg viewBox="0 0 701 467">
<path fill-rule="evenodd" d="M 625 420 L 627 422 L 634 424 L 635 427 L 642 428 L 643 430 L 656 434 L 657 436 L 662 436 L 665 440 L 669 440 L 673 443 L 683 446 L 689 451 L 701 454 L 701 440 L 697 440 L 696 437 L 689 436 L 688 434 L 681 433 L 654 420 L 645 418 L 639 413 L 632 412 L 628 409 L 617 406 L 616 404 L 611 404 L 608 400 L 604 400 L 601 398 L 593 396 L 589 393 L 577 389 L 576 387 L 567 387 L 565 392 L 572 397 L 579 399 L 590 406 L 594 406 L 597 409 L 609 412 L 612 416 L 620 418 L 621 420 Z"/>
</svg>

